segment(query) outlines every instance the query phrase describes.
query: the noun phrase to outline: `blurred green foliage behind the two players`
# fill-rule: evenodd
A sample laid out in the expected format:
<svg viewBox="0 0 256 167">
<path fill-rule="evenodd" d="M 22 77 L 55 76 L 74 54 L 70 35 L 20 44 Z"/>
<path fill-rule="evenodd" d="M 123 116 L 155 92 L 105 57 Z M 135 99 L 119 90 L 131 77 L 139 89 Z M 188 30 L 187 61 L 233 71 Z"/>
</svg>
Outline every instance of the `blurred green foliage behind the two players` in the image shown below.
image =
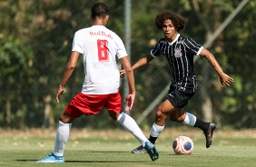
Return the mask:
<svg viewBox="0 0 256 167">
<path fill-rule="evenodd" d="M 125 42 L 123 1 L 102 2 L 111 10 L 107 27 Z M 163 10 L 170 9 L 189 18 L 189 24 L 181 34 L 204 44 L 240 3 L 241 0 L 132 0 L 132 63 L 150 52 L 153 44 L 162 37 L 153 25 L 153 19 Z M 1 127 L 53 127 L 58 114 L 81 90 L 84 72 L 80 63 L 66 85 L 61 103 L 54 101 L 71 52 L 74 32 L 92 24 L 92 5 L 94 1 L 0 1 Z M 194 64 L 200 87 L 186 111 L 204 120 L 210 119 L 219 127 L 241 129 L 256 125 L 255 8 L 256 1 L 251 0 L 208 48 L 235 83 L 230 87 L 222 86 L 218 75 L 202 58 Z M 131 113 L 134 119 L 170 83 L 169 74 L 170 68 L 163 57 L 135 71 L 137 97 Z M 206 108 L 204 104 L 208 104 Z M 209 108 L 211 112 L 208 112 Z M 211 113 L 210 118 L 208 113 Z M 151 126 L 153 117 L 150 113 L 142 126 Z M 178 126 L 175 123 L 167 125 Z M 103 112 L 98 116 L 84 116 L 75 121 L 74 126 L 113 128 L 115 123 Z"/>
</svg>

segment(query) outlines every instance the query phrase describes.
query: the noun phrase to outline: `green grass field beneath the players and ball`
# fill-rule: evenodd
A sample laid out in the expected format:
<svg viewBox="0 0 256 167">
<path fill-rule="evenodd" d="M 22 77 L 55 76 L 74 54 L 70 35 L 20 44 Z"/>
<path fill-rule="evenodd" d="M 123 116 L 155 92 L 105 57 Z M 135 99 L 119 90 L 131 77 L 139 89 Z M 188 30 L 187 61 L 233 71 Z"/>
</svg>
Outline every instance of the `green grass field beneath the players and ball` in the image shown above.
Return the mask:
<svg viewBox="0 0 256 167">
<path fill-rule="evenodd" d="M 146 136 L 150 132 L 144 131 Z M 194 142 L 191 155 L 175 155 L 172 141 L 178 135 L 190 136 Z M 53 152 L 55 131 L 0 130 L 0 167 L 37 166 L 202 166 L 241 167 L 256 166 L 256 130 L 215 131 L 214 142 L 205 148 L 200 130 L 165 129 L 156 146 L 160 157 L 152 162 L 149 155 L 133 154 L 139 146 L 131 133 L 121 130 L 72 130 L 64 152 L 65 163 L 36 163 Z"/>
</svg>

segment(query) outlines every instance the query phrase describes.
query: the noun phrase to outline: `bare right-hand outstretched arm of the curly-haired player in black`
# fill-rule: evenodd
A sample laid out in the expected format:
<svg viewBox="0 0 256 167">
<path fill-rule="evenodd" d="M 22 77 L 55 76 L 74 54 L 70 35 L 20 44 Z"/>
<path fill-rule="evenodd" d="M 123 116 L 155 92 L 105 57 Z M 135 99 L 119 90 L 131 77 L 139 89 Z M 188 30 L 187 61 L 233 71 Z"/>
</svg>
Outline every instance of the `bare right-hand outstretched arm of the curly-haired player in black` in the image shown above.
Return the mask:
<svg viewBox="0 0 256 167">
<path fill-rule="evenodd" d="M 212 67 L 215 69 L 217 74 L 219 74 L 219 76 L 220 76 L 220 81 L 221 81 L 222 85 L 225 84 L 227 86 L 230 86 L 230 84 L 234 82 L 234 79 L 231 78 L 231 76 L 223 73 L 222 67 L 217 62 L 217 60 L 215 59 L 214 55 L 211 52 L 209 52 L 207 49 L 203 48 L 201 55 L 203 57 L 205 57 L 209 61 L 210 64 L 212 64 Z"/>
</svg>

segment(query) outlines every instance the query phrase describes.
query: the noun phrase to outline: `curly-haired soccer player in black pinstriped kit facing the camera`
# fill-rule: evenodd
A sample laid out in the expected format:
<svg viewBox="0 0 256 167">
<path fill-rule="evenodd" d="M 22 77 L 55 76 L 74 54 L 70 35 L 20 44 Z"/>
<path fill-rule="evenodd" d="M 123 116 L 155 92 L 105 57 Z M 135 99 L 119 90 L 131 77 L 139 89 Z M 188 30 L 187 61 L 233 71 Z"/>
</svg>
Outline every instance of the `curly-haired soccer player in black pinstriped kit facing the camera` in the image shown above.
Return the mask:
<svg viewBox="0 0 256 167">
<path fill-rule="evenodd" d="M 188 104 L 189 99 L 192 98 L 197 89 L 196 76 L 193 70 L 193 56 L 201 55 L 206 58 L 219 74 L 222 84 L 229 86 L 234 80 L 228 74 L 223 73 L 221 66 L 212 53 L 203 48 L 202 45 L 194 42 L 192 38 L 185 38 L 178 33 L 185 27 L 187 22 L 187 18 L 171 11 L 164 11 L 157 15 L 154 23 L 162 30 L 164 38 L 159 40 L 150 54 L 146 54 L 137 63 L 133 64 L 133 70 L 150 63 L 161 54 L 166 57 L 172 69 L 170 90 L 166 100 L 157 108 L 155 123 L 153 123 L 149 141 L 153 143 L 156 141 L 163 131 L 165 119 L 169 116 L 173 122 L 184 123 L 202 129 L 206 139 L 206 148 L 209 148 L 213 141 L 212 134 L 216 128 L 215 123 L 205 123 L 192 113 L 183 111 L 183 107 Z M 120 74 L 123 76 L 125 72 L 122 70 Z M 143 146 L 139 146 L 132 152 L 143 153 L 146 151 Z"/>
</svg>

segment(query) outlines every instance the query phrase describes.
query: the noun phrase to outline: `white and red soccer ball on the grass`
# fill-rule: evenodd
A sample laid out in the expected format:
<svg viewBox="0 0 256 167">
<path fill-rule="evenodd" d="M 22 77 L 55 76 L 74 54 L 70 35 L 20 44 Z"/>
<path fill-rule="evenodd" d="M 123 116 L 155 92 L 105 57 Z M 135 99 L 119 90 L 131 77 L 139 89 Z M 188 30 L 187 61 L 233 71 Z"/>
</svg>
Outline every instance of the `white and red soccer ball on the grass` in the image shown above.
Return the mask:
<svg viewBox="0 0 256 167">
<path fill-rule="evenodd" d="M 192 139 L 188 136 L 178 136 L 173 141 L 172 148 L 177 155 L 189 155 L 193 149 Z"/>
</svg>

